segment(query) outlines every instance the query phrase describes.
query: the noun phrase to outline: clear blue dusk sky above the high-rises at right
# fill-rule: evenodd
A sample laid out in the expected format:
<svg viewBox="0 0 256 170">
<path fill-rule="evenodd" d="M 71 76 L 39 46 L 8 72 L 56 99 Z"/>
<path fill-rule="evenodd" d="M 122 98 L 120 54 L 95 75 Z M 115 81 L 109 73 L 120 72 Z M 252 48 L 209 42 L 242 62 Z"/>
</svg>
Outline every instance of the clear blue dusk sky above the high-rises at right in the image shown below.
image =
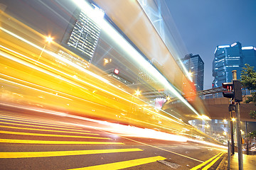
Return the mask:
<svg viewBox="0 0 256 170">
<path fill-rule="evenodd" d="M 256 0 L 161 1 L 169 6 L 188 53 L 200 55 L 205 63 L 204 89 L 211 88 L 217 45 L 238 41 L 256 47 Z"/>
</svg>

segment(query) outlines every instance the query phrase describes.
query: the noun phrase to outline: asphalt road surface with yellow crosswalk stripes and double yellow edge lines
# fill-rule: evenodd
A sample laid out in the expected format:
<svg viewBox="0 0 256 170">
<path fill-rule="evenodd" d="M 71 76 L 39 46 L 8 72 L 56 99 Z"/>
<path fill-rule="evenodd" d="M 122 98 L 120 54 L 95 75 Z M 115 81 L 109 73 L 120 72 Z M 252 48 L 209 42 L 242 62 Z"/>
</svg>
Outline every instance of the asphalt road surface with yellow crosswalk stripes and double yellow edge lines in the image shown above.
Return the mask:
<svg viewBox="0 0 256 170">
<path fill-rule="evenodd" d="M 125 127 L 132 129 L 1 107 L 0 169 L 216 169 L 225 154 L 196 142 L 138 137 Z"/>
</svg>

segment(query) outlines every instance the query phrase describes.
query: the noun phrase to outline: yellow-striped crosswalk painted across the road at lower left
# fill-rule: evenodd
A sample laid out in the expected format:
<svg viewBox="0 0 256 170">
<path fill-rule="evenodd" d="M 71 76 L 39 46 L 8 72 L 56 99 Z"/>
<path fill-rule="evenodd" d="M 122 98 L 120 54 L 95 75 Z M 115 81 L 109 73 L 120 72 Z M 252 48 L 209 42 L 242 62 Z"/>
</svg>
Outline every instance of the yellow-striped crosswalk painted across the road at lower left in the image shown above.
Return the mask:
<svg viewBox="0 0 256 170">
<path fill-rule="evenodd" d="M 10 159 L 12 159 L 12 162 L 15 162 L 23 158 L 33 158 L 36 161 L 36 159 L 48 159 L 50 157 L 70 157 L 75 162 L 76 159 L 72 156 L 82 156 L 86 164 L 87 157 L 89 159 L 90 156 L 95 154 L 102 157 L 105 154 L 134 152 L 140 154 L 144 152 L 140 148 L 125 147 L 124 142 L 116 141 L 114 138 L 109 137 L 111 135 L 106 135 L 97 130 L 84 129 L 57 120 L 35 118 L 30 115 L 16 115 L 7 111 L 0 111 L 0 136 L 0 145 L 5 145 L 6 147 L 4 152 L 0 150 L 1 162 L 7 162 Z M 33 147 L 28 150 L 18 149 L 15 151 L 12 147 L 16 148 L 16 145 L 18 147 Z M 50 146 L 46 147 L 49 148 L 48 150 L 45 149 L 45 145 Z M 59 148 L 63 148 L 63 146 L 67 147 L 67 149 L 60 150 Z M 86 149 L 76 149 L 73 146 L 78 146 L 79 148 L 86 147 Z M 33 148 L 35 149 L 33 150 Z M 64 169 L 124 169 L 164 159 L 166 158 L 157 155 L 154 155 L 154 157 L 142 156 L 139 159 L 137 157 L 136 159 L 128 160 L 119 157 L 118 161 L 114 159 L 114 161 L 109 160 L 108 162 L 102 163 L 100 161 L 95 163 L 90 162 L 89 166 L 74 166 L 71 168 L 70 166 L 65 167 L 63 163 L 63 167 Z M 0 169 L 10 168 L 10 166 L 5 165 L 1 167 L 0 164 Z M 63 167 L 60 169 L 63 169 Z M 35 167 L 35 169 L 37 168 Z"/>
</svg>

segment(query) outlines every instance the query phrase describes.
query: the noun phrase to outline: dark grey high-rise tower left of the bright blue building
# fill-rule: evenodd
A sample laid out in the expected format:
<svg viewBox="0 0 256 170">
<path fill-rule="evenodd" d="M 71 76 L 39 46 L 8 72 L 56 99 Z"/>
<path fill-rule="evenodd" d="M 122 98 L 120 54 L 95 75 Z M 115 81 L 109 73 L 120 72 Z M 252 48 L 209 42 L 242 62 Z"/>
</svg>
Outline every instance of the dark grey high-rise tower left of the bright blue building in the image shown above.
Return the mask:
<svg viewBox="0 0 256 170">
<path fill-rule="evenodd" d="M 204 62 L 200 55 L 189 54 L 181 59 L 184 66 L 191 74 L 193 83 L 196 86 L 197 91 L 203 90 L 203 72 L 204 72 Z"/>
</svg>

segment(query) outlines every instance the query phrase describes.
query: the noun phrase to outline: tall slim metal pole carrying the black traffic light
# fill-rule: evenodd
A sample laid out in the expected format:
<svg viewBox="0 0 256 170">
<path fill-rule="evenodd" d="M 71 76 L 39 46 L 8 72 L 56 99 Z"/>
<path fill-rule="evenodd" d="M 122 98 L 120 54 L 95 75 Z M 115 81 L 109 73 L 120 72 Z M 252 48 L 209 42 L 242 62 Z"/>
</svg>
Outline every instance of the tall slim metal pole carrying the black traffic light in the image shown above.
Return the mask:
<svg viewBox="0 0 256 170">
<path fill-rule="evenodd" d="M 233 84 L 234 81 L 237 80 L 237 71 L 233 70 Z M 237 89 L 241 89 L 241 86 L 235 87 L 234 86 L 234 91 Z M 235 94 L 237 95 L 237 94 Z M 241 94 L 242 96 L 242 94 Z M 236 105 L 236 126 L 237 126 L 237 140 L 238 140 L 238 164 L 239 164 L 239 170 L 243 169 L 243 162 L 242 162 L 242 137 L 241 137 L 241 123 L 240 123 L 240 100 L 236 100 L 235 98 L 235 105 Z"/>
</svg>

